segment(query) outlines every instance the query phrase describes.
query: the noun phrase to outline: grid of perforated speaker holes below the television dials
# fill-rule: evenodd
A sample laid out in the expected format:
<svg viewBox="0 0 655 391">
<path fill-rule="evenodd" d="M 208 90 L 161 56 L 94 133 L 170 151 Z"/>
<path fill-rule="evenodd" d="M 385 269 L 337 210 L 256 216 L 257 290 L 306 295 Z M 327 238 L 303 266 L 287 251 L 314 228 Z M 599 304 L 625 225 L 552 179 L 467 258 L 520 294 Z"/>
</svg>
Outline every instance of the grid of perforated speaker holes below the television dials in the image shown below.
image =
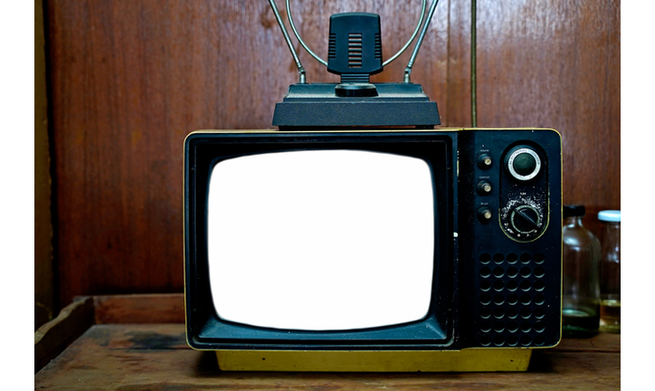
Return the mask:
<svg viewBox="0 0 655 391">
<path fill-rule="evenodd" d="M 546 256 L 480 253 L 479 344 L 530 347 L 546 343 Z"/>
</svg>

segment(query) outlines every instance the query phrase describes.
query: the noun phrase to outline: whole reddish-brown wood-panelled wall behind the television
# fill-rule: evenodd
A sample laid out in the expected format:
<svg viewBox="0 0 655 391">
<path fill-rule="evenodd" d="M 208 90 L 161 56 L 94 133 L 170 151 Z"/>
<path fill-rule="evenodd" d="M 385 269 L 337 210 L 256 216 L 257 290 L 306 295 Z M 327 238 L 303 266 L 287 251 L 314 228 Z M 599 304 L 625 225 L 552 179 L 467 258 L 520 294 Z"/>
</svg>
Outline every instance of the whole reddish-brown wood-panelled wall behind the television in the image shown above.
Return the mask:
<svg viewBox="0 0 655 391">
<path fill-rule="evenodd" d="M 420 12 L 418 0 L 292 5 L 322 57 L 330 14 L 380 14 L 388 58 Z M 46 14 L 62 305 L 182 291 L 185 135 L 271 128 L 297 81 L 268 2 L 51 0 Z M 477 26 L 479 127 L 558 129 L 565 203 L 586 205 L 597 232 L 595 213 L 621 207 L 620 2 L 479 0 Z M 413 81 L 443 126 L 470 126 L 469 40 L 470 0 L 441 0 Z M 374 81 L 401 81 L 408 56 Z M 337 81 L 300 57 L 309 82 Z"/>
</svg>

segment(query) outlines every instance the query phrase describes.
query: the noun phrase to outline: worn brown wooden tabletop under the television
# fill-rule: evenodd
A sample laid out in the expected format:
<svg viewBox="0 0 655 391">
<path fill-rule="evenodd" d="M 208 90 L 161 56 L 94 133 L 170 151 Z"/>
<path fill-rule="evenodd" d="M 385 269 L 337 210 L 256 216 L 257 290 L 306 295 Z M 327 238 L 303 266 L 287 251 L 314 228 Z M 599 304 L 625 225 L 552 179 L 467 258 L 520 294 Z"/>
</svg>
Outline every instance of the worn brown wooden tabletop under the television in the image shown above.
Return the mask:
<svg viewBox="0 0 655 391">
<path fill-rule="evenodd" d="M 613 334 L 564 339 L 556 348 L 536 349 L 527 372 L 519 373 L 222 372 L 213 352 L 195 351 L 186 345 L 182 323 L 99 324 L 98 319 L 103 316 L 96 310 L 96 324 L 36 373 L 35 389 L 603 390 L 621 387 L 621 336 Z M 125 320 L 134 319 L 127 316 Z"/>
</svg>

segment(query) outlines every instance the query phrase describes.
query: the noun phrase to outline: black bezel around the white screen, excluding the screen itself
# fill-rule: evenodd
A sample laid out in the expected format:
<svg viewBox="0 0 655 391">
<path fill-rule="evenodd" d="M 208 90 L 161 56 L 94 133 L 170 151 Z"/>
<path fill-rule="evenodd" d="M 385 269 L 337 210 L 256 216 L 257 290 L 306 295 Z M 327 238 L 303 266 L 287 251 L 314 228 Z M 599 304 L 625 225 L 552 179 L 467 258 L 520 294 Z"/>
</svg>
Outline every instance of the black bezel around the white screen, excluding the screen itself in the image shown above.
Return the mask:
<svg viewBox="0 0 655 391">
<path fill-rule="evenodd" d="M 185 305 L 187 340 L 198 349 L 432 349 L 451 347 L 457 286 L 453 233 L 456 138 L 435 131 L 198 132 L 185 140 Z M 425 318 L 372 329 L 268 329 L 218 319 L 209 286 L 206 202 L 218 162 L 253 154 L 316 149 L 386 152 L 424 160 L 434 190 L 432 299 Z"/>
</svg>

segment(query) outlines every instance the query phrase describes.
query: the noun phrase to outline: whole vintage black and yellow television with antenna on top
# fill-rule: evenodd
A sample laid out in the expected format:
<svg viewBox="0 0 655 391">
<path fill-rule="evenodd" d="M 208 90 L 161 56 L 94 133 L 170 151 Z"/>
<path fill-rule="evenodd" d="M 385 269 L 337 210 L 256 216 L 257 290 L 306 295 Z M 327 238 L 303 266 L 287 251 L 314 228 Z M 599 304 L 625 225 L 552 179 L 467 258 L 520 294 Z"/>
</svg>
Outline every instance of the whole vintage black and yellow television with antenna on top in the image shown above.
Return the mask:
<svg viewBox="0 0 655 391">
<path fill-rule="evenodd" d="M 330 64 L 376 21 L 333 15 Z M 560 135 L 434 129 L 420 85 L 343 73 L 300 72 L 280 130 L 185 139 L 188 344 L 223 370 L 526 370 L 561 336 Z"/>
</svg>

